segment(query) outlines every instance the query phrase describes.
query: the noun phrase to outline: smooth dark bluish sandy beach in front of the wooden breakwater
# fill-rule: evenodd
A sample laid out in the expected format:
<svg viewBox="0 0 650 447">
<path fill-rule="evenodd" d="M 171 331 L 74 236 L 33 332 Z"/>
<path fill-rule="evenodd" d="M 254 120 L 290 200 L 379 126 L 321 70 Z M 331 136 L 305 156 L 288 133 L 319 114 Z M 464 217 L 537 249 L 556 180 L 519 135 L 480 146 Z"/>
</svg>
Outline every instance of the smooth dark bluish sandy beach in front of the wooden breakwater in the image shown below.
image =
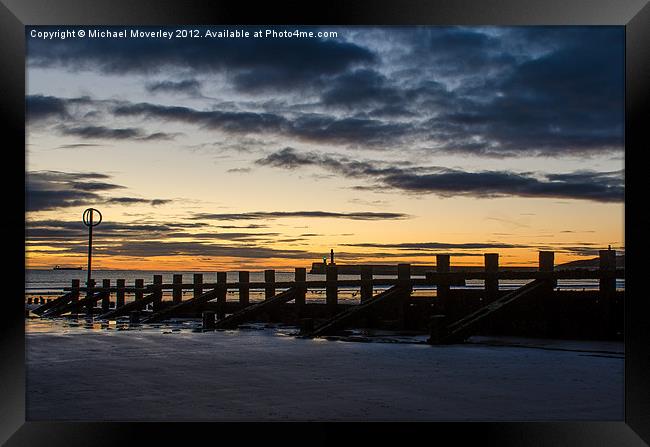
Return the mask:
<svg viewBox="0 0 650 447">
<path fill-rule="evenodd" d="M 623 344 L 27 321 L 28 420 L 620 420 Z M 402 341 L 402 342 L 398 342 Z M 404 341 L 410 341 L 408 343 Z"/>
</svg>

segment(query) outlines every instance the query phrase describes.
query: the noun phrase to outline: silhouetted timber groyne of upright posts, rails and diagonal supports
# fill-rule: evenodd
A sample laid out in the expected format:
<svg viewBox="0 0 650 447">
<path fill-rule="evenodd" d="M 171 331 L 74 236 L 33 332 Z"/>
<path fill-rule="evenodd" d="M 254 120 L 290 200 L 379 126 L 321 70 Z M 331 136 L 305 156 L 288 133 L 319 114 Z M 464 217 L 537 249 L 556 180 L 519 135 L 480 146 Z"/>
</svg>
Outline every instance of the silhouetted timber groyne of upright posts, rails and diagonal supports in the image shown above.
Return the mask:
<svg viewBox="0 0 650 447">
<path fill-rule="evenodd" d="M 445 315 L 447 322 L 458 321 L 481 307 L 497 302 L 507 293 L 500 289 L 499 280 L 524 280 L 543 283 L 535 288 L 535 298 L 526 298 L 529 304 L 534 303 L 532 314 L 531 306 L 528 306 L 528 313 L 531 315 L 526 318 L 551 322 L 544 325 L 540 330 L 541 333 L 548 334 L 562 326 L 557 323 L 562 315 L 569 316 L 569 320 L 573 320 L 573 323 L 563 323 L 569 327 L 575 325 L 577 321 L 579 324 L 586 324 L 585 327 L 596 328 L 604 325 L 605 332 L 610 335 L 622 332 L 624 292 L 617 292 L 616 279 L 624 278 L 625 272 L 624 269 L 616 268 L 616 254 L 613 250 L 602 250 L 599 268 L 593 270 L 555 270 L 554 252 L 551 251 L 539 252 L 538 269 L 531 271 L 502 269 L 499 267 L 499 256 L 495 253 L 485 254 L 484 258 L 485 264 L 481 270 L 452 271 L 450 256 L 441 254 L 436 256 L 435 269 L 424 272 L 424 275 L 414 276 L 411 274 L 410 264 L 398 264 L 397 275 L 391 278 L 377 278 L 373 275 L 372 266 L 361 266 L 359 279 L 343 279 L 339 278 L 338 267 L 334 264 L 326 266 L 323 280 L 307 280 L 305 268 L 296 268 L 292 281 L 276 281 L 275 270 L 265 270 L 264 281 L 250 281 L 248 271 L 240 271 L 238 280 L 234 282 L 227 281 L 225 272 L 218 272 L 212 276 L 216 281 L 210 281 L 211 278 L 196 273 L 191 283 L 184 283 L 180 274 L 174 274 L 171 283 L 163 282 L 162 275 L 153 275 L 152 282 L 149 284 L 145 284 L 144 279 L 137 279 L 133 285 L 127 285 L 124 279 L 118 279 L 114 284 L 104 279 L 101 281 L 101 286 L 91 284 L 87 287 L 81 286 L 79 280 L 73 280 L 70 287 L 64 288 L 65 295 L 50 302 L 41 301 L 42 306 L 36 311 L 39 311 L 37 313 L 42 316 L 56 316 L 85 310 L 87 313 L 100 314 L 100 317 L 107 318 L 126 315 L 132 311 L 148 311 L 150 316 L 145 316 L 144 321 L 147 319 L 160 321 L 173 317 L 200 317 L 207 311 L 214 312 L 221 320 L 227 315 L 241 313 L 252 306 L 254 303 L 250 299 L 251 291 L 257 291 L 261 295 L 261 301 L 268 301 L 269 305 L 251 308 L 248 312 L 250 316 L 244 312 L 238 316 L 237 321 L 253 318 L 253 310 L 255 310 L 255 318 L 263 315 L 263 318 L 271 321 L 296 323 L 305 318 L 333 318 L 340 312 L 347 311 L 350 306 L 364 305 L 372 301 L 379 296 L 377 293 L 397 288 L 400 293 L 391 295 L 397 297 L 397 302 L 392 300 L 391 303 L 382 304 L 381 309 L 380 306 L 376 306 L 377 309 L 373 306 L 364 306 L 364 309 L 368 307 L 368 311 L 357 312 L 363 314 L 361 316 L 365 320 L 362 324 L 376 326 L 378 321 L 386 322 L 392 318 L 397 320 L 394 326 L 398 328 L 422 329 L 430 327 L 433 317 L 438 317 L 437 322 L 441 321 L 440 315 Z M 555 290 L 558 280 L 580 279 L 598 280 L 598 290 Z M 481 290 L 464 287 L 468 280 L 483 280 L 484 286 Z M 425 291 L 435 290 L 435 295 L 414 296 L 412 291 L 416 287 Z M 341 289 L 354 289 L 355 295 L 358 293 L 359 304 L 340 302 Z M 285 293 L 287 291 L 288 293 Z M 324 292 L 324 303 L 306 300 L 309 291 L 318 291 L 321 294 Z M 229 300 L 228 294 L 234 294 L 233 292 L 237 293 L 237 298 Z M 280 297 L 281 299 L 277 299 L 278 294 L 281 293 L 284 295 Z M 163 300 L 165 296 L 168 297 L 167 300 Z M 28 298 L 28 303 L 30 299 Z M 493 307 L 496 309 L 499 306 Z M 520 307 L 518 313 L 509 315 L 506 320 L 515 323 L 525 321 L 522 315 L 526 316 L 526 306 Z M 509 311 L 505 309 L 504 312 L 508 315 Z M 356 316 L 355 318 L 358 319 Z M 499 324 L 503 326 L 503 318 L 501 320 L 501 323 L 496 322 L 496 326 L 492 321 L 483 329 L 498 329 Z M 588 324 L 586 320 L 589 320 Z M 535 324 L 529 323 L 524 326 L 530 328 Z M 219 327 L 218 323 L 217 327 Z M 512 332 L 513 328 L 510 327 L 508 330 Z M 571 330 L 568 333 L 571 333 Z"/>
</svg>

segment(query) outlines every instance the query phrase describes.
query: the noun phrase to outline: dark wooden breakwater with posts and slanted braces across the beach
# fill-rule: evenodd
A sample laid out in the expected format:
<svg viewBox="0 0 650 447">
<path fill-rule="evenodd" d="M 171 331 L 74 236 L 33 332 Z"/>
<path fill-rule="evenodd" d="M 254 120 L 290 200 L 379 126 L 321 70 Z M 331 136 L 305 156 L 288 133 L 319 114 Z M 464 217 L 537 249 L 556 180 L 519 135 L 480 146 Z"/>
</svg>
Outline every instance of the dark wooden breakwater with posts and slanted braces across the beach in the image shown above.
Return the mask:
<svg viewBox="0 0 650 447">
<path fill-rule="evenodd" d="M 74 280 L 65 294 L 34 312 L 42 317 L 85 313 L 143 323 L 203 318 L 207 329 L 282 322 L 300 325 L 305 336 L 350 328 L 401 329 L 426 331 L 431 342 L 440 343 L 473 334 L 617 339 L 622 338 L 625 292 L 616 290 L 616 279 L 624 278 L 625 272 L 616 268 L 615 256 L 612 250 L 602 250 L 594 270 L 556 270 L 554 253 L 542 251 L 536 270 L 500 268 L 498 254 L 487 253 L 482 269 L 452 269 L 449 255 L 441 254 L 435 269 L 419 275 L 410 264 L 398 264 L 394 278 L 374 277 L 372 266 L 361 266 L 359 279 L 342 279 L 338 267 L 330 264 L 322 280 L 309 281 L 305 268 L 296 268 L 292 281 L 276 281 L 274 270 L 265 270 L 264 281 L 259 282 L 251 282 L 248 271 L 239 272 L 236 282 L 228 282 L 225 272 L 218 272 L 214 282 L 200 273 L 191 283 L 184 283 L 178 274 L 171 283 L 163 283 L 162 275 L 154 275 L 149 284 L 138 279 L 133 285 L 103 280 L 82 287 Z M 557 290 L 562 279 L 598 280 L 599 289 Z M 483 280 L 484 286 L 463 287 L 467 280 Z M 516 290 L 501 290 L 499 280 L 527 282 Z M 425 293 L 414 295 L 415 288 Z M 358 303 L 341 302 L 342 289 L 354 289 Z M 324 292 L 324 302 L 306 299 L 314 290 Z M 251 291 L 263 294 L 263 299 L 252 302 Z"/>
</svg>

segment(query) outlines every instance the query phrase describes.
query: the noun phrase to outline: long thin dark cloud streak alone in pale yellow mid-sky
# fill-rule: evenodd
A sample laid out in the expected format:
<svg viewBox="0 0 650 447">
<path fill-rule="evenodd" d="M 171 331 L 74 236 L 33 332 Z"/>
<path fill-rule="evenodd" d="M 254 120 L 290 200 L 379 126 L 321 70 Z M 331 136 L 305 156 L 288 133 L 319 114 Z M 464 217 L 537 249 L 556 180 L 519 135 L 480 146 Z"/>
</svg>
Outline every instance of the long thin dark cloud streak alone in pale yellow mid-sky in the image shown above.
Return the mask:
<svg viewBox="0 0 650 447">
<path fill-rule="evenodd" d="M 281 219 L 288 217 L 334 218 L 350 220 L 391 220 L 406 219 L 409 216 L 402 213 L 375 213 L 369 211 L 337 213 L 331 211 L 255 211 L 249 213 L 199 213 L 193 219 L 197 220 L 259 220 Z"/>
</svg>

